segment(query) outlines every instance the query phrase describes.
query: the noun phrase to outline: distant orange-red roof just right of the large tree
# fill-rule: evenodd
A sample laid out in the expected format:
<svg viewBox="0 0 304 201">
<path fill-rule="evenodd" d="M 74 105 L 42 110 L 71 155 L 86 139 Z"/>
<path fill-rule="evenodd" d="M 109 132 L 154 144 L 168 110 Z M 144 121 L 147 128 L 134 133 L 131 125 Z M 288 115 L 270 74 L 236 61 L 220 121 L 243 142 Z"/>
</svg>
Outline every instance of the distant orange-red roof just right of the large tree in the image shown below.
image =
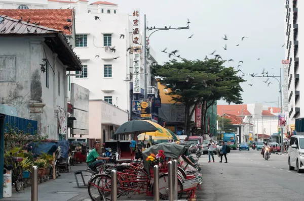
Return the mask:
<svg viewBox="0 0 304 201">
<path fill-rule="evenodd" d="M 217 105 L 217 115 L 229 113 L 236 116 L 251 116 L 247 110 L 247 105 Z"/>
</svg>

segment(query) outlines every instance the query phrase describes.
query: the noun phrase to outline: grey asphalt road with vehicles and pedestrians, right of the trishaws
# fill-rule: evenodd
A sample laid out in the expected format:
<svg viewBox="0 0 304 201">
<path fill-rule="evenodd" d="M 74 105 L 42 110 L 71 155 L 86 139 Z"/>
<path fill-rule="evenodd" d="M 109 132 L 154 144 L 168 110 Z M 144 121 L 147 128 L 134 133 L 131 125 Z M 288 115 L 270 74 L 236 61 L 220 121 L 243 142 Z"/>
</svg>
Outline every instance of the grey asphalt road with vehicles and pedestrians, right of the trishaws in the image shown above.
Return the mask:
<svg viewBox="0 0 304 201">
<path fill-rule="evenodd" d="M 304 200 L 304 174 L 288 170 L 287 155 L 272 154 L 265 161 L 257 150 L 231 150 L 227 159 L 219 163 L 215 156 L 215 163 L 207 163 L 208 156 L 201 156 L 197 200 Z"/>
</svg>

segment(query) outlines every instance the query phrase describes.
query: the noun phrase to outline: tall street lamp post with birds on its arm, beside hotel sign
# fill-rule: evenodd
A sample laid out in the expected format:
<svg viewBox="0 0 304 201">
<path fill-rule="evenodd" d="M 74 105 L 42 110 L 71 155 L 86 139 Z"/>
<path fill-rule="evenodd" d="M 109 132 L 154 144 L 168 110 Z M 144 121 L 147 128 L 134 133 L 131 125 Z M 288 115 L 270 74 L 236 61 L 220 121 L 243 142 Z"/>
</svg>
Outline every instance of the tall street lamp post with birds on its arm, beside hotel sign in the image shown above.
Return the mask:
<svg viewBox="0 0 304 201">
<path fill-rule="evenodd" d="M 150 36 L 157 32 L 157 31 L 161 31 L 161 30 L 181 30 L 181 29 L 189 29 L 189 27 L 178 27 L 178 28 L 147 28 L 146 26 L 146 16 L 144 15 L 144 98 L 147 98 L 147 43 L 149 41 Z M 155 30 L 153 31 L 147 38 L 146 36 L 146 30 Z"/>
</svg>

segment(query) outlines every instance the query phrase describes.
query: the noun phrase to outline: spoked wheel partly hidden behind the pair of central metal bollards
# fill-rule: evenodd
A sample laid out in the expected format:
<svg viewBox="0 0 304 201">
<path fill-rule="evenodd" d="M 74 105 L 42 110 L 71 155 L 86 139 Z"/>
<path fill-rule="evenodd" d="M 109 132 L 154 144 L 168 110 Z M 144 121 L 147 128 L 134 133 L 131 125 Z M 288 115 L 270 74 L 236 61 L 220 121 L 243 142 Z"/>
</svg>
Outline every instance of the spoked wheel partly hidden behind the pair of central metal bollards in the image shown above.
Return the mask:
<svg viewBox="0 0 304 201">
<path fill-rule="evenodd" d="M 169 199 L 169 176 L 168 173 L 163 174 L 159 178 L 159 192 L 160 192 L 160 199 Z M 179 179 L 177 179 L 177 190 L 178 199 L 181 198 L 182 195 L 182 183 Z"/>
</svg>

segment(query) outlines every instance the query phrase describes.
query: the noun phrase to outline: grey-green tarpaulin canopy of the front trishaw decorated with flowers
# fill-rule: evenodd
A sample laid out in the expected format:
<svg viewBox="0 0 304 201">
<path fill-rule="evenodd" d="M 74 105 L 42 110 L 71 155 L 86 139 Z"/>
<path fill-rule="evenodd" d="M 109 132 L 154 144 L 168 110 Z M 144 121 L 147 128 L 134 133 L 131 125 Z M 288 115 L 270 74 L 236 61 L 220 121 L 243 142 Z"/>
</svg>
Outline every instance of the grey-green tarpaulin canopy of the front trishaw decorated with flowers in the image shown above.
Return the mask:
<svg viewBox="0 0 304 201">
<path fill-rule="evenodd" d="M 164 151 L 164 155 L 167 158 L 177 159 L 180 155 L 184 154 L 187 150 L 185 145 L 175 144 L 175 143 L 161 143 L 150 146 L 142 152 L 143 157 L 143 165 L 148 174 L 150 174 L 149 164 L 146 162 L 146 158 L 150 156 L 150 154 L 157 155 L 159 150 Z"/>
</svg>

